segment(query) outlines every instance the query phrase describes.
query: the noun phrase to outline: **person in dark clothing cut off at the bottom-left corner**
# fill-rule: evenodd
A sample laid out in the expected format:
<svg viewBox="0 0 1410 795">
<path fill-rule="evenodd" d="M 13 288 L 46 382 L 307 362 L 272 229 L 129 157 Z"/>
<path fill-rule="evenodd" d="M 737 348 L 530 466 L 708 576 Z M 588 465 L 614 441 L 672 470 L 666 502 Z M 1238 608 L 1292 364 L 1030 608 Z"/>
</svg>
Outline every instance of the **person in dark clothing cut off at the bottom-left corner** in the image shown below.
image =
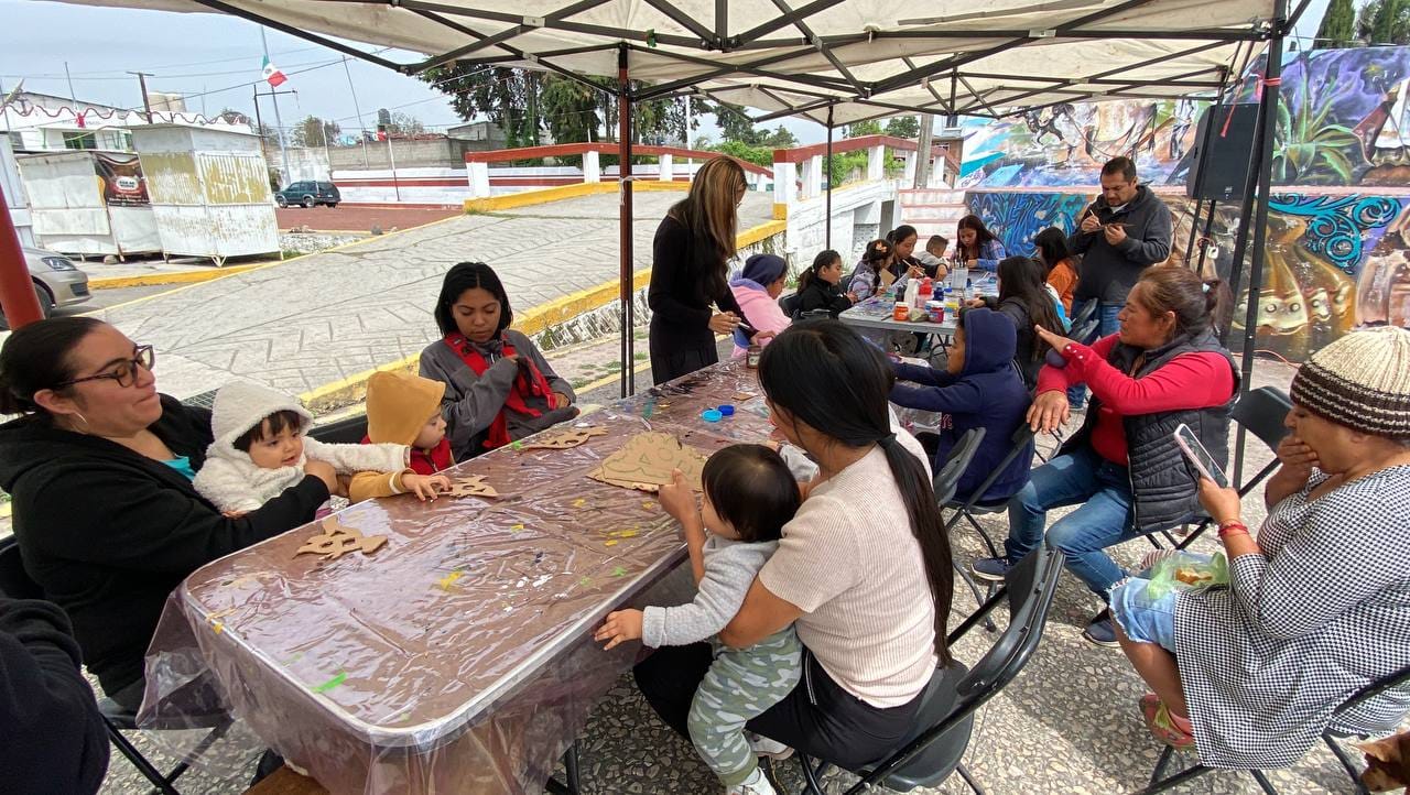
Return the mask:
<svg viewBox="0 0 1410 795">
<path fill-rule="evenodd" d="M 107 730 L 55 605 L 0 598 L 0 781 L 14 795 L 97 792 Z"/>
</svg>

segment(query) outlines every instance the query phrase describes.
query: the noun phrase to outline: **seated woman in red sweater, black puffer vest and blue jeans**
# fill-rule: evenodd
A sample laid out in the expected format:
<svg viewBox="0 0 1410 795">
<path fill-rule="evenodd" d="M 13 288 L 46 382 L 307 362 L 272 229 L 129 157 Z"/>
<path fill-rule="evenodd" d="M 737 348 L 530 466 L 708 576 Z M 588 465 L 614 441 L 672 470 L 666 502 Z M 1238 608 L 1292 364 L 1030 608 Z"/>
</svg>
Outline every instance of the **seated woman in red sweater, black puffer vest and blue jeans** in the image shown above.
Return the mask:
<svg viewBox="0 0 1410 795">
<path fill-rule="evenodd" d="M 1048 431 L 1066 423 L 1067 389 L 1079 383 L 1091 389 L 1093 403 L 1081 430 L 1010 500 L 1007 554 L 974 561 L 976 577 L 1001 581 L 1043 541 L 1048 510 L 1076 505 L 1046 527 L 1046 538 L 1105 602 L 1125 572 L 1103 550 L 1194 516 L 1194 478 L 1173 433 L 1187 424 L 1210 452 L 1228 457 L 1238 371 L 1214 335 L 1227 307 L 1221 282 L 1201 282 L 1184 268 L 1148 268 L 1127 297 L 1117 334 L 1089 347 L 1035 327 L 1063 366 L 1039 371 L 1029 426 Z M 1098 613 L 1083 637 L 1114 648 L 1111 615 Z"/>
</svg>

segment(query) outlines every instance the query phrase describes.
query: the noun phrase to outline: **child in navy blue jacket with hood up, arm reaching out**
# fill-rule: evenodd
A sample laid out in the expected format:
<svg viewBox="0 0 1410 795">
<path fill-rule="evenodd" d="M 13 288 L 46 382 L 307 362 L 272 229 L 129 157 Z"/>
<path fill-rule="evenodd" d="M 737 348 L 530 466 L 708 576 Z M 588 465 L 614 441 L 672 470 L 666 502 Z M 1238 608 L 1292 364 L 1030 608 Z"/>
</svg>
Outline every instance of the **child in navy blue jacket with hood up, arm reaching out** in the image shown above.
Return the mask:
<svg viewBox="0 0 1410 795">
<path fill-rule="evenodd" d="M 950 448 L 970 429 L 984 429 L 974 461 L 960 475 L 956 499 L 969 499 L 984 478 L 1008 455 L 1014 431 L 1026 421 L 1031 402 L 1014 368 L 1018 334 L 1008 317 L 990 309 L 963 309 L 943 371 L 895 362 L 891 402 L 908 409 L 939 412 L 940 441 L 935 451 L 939 472 Z M 1010 461 L 980 502 L 1003 502 L 1024 488 L 1034 462 L 1034 445 Z"/>
</svg>

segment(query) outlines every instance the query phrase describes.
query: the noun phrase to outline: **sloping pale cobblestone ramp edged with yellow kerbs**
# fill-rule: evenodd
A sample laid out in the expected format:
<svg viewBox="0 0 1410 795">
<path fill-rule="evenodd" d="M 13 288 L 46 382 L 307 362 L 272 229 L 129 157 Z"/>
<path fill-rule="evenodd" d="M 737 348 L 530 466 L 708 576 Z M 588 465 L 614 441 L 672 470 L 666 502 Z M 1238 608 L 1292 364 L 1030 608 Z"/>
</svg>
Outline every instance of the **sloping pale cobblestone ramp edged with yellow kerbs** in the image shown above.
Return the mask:
<svg viewBox="0 0 1410 795">
<path fill-rule="evenodd" d="M 636 196 L 637 269 L 650 265 L 656 226 L 681 196 Z M 616 195 L 599 195 L 455 217 L 100 317 L 157 347 L 162 392 L 188 398 L 245 378 L 303 393 L 420 352 L 437 337 L 431 309 L 455 262 L 494 265 L 520 310 L 613 279 L 618 206 Z M 749 193 L 739 226 L 759 226 L 771 213 L 771 195 Z"/>
</svg>

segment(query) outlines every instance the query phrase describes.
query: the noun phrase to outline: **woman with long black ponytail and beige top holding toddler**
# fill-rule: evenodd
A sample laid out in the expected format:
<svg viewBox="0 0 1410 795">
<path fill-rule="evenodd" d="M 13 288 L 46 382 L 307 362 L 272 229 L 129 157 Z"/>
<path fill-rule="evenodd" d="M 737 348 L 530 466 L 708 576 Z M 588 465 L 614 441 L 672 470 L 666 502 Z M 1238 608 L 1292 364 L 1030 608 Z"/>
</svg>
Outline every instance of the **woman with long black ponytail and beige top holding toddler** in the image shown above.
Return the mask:
<svg viewBox="0 0 1410 795">
<path fill-rule="evenodd" d="M 819 475 L 721 633 L 742 648 L 794 624 L 805 647 L 804 681 L 747 725 L 770 740 L 756 750 L 876 761 L 912 729 L 936 664 L 952 664 L 950 547 L 925 452 L 891 426 L 893 381 L 885 357 L 835 320 L 798 323 L 764 348 L 759 382 L 773 423 Z M 636 667 L 642 692 L 681 734 L 711 657 L 702 643 Z"/>
</svg>

